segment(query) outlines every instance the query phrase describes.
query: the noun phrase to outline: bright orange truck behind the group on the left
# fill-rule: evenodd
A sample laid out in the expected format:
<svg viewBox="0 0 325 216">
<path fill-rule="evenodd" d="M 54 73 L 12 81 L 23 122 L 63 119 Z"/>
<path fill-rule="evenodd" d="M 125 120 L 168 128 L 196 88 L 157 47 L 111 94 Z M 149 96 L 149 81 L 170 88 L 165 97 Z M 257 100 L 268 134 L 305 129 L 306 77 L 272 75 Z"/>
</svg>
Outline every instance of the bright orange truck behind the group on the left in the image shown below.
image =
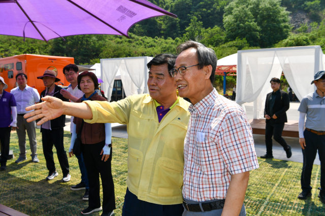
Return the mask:
<svg viewBox="0 0 325 216">
<path fill-rule="evenodd" d="M 4 78 L 8 84 L 9 91 L 17 87 L 16 75 L 24 73 L 27 75 L 27 85 L 36 88 L 38 92 L 45 89 L 43 81 L 37 79 L 42 76 L 47 69 L 54 70 L 57 73 L 57 78 L 61 81 L 56 83 L 58 86 L 68 86 L 70 83 L 63 75 L 63 67 L 67 64 L 73 64 L 74 58 L 48 56 L 48 55 L 31 55 L 23 54 L 7 58 L 0 58 L 0 76 Z"/>
</svg>

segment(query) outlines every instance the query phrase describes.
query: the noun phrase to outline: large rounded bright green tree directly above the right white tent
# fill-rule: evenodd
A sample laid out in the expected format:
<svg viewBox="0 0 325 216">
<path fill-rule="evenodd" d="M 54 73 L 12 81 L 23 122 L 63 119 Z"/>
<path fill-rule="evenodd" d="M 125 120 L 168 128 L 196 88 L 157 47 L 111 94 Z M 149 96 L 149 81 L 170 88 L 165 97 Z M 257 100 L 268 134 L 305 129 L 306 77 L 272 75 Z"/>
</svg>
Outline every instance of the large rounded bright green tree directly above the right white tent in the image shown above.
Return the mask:
<svg viewBox="0 0 325 216">
<path fill-rule="evenodd" d="M 223 25 L 232 41 L 246 38 L 250 46 L 271 47 L 289 33 L 289 17 L 280 0 L 235 0 L 225 8 Z"/>
</svg>

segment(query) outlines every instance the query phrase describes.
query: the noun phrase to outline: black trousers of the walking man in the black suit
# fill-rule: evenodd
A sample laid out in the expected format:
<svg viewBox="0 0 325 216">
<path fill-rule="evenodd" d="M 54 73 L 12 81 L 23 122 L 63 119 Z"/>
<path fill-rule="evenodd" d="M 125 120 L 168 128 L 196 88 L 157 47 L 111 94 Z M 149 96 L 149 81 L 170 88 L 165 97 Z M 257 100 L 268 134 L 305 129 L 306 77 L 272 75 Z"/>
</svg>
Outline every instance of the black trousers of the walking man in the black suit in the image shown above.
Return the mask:
<svg viewBox="0 0 325 216">
<path fill-rule="evenodd" d="M 272 119 L 271 119 L 272 120 Z M 282 131 L 284 128 L 284 123 L 266 123 L 265 127 L 265 144 L 266 144 L 266 154 L 272 155 L 272 136 L 275 141 L 279 142 L 279 144 L 283 147 L 284 150 L 287 150 L 288 145 L 285 142 L 284 138 L 282 138 Z"/>
</svg>

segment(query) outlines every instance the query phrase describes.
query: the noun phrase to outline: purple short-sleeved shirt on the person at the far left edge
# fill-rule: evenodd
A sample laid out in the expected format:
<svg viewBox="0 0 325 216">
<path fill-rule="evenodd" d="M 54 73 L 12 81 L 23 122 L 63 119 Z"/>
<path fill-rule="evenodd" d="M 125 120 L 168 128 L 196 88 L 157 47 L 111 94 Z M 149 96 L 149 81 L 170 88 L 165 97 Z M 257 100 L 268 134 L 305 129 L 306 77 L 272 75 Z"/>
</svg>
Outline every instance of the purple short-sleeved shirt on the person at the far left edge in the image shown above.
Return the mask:
<svg viewBox="0 0 325 216">
<path fill-rule="evenodd" d="M 15 97 L 3 90 L 0 97 L 0 127 L 8 127 L 11 124 L 11 106 L 17 106 Z"/>
</svg>

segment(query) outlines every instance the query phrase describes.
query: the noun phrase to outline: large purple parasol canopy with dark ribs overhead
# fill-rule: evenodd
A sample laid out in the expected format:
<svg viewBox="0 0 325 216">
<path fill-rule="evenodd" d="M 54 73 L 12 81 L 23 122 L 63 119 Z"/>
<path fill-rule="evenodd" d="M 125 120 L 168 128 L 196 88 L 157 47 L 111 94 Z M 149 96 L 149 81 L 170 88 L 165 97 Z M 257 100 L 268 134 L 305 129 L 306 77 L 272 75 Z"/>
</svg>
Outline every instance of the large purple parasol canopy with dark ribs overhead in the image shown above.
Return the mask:
<svg viewBox="0 0 325 216">
<path fill-rule="evenodd" d="M 0 34 L 43 41 L 76 34 L 117 34 L 156 16 L 177 16 L 146 0 L 0 0 Z"/>
</svg>

